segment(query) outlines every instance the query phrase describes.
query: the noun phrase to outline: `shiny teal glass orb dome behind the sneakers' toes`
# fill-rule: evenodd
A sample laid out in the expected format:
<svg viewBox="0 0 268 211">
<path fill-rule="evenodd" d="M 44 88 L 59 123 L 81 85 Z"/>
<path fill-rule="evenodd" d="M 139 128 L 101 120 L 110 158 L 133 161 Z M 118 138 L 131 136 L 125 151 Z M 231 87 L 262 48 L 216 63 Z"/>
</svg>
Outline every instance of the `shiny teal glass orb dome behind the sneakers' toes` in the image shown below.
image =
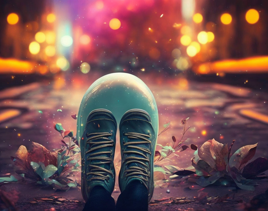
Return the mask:
<svg viewBox="0 0 268 211">
<path fill-rule="evenodd" d="M 156 101 L 147 85 L 136 76 L 128 73 L 111 73 L 99 78 L 89 87 L 77 115 L 77 140 L 79 142 L 89 113 L 98 108 L 111 111 L 118 125 L 126 111 L 135 108 L 143 109 L 150 114 L 157 137 Z"/>
</svg>

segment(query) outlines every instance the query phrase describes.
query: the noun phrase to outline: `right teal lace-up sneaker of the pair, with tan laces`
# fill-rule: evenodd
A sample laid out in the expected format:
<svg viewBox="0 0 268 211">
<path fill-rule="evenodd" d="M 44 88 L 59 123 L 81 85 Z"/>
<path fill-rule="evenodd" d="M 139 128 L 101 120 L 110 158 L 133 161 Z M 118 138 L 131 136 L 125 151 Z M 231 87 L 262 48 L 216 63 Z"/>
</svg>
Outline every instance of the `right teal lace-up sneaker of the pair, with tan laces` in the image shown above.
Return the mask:
<svg viewBox="0 0 268 211">
<path fill-rule="evenodd" d="M 133 180 L 139 180 L 148 189 L 148 201 L 153 195 L 153 159 L 156 135 L 150 115 L 141 109 L 127 111 L 119 124 L 121 146 L 121 192 Z"/>
</svg>

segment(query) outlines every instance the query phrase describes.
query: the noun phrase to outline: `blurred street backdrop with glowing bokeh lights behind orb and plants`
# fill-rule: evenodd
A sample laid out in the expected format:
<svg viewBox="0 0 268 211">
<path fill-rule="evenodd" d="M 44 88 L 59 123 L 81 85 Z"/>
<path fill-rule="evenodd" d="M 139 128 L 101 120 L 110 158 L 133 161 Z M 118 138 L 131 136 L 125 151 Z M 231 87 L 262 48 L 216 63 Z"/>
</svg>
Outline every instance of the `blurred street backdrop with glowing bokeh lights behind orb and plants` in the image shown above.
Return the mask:
<svg viewBox="0 0 268 211">
<path fill-rule="evenodd" d="M 53 124 L 75 132 L 83 94 L 114 72 L 152 90 L 159 130 L 171 120 L 159 143 L 190 117 L 191 143 L 259 142 L 267 154 L 268 1 L 2 0 L 0 11 L 2 163 L 31 141 L 59 147 Z M 183 156 L 174 162 L 191 165 Z"/>
</svg>

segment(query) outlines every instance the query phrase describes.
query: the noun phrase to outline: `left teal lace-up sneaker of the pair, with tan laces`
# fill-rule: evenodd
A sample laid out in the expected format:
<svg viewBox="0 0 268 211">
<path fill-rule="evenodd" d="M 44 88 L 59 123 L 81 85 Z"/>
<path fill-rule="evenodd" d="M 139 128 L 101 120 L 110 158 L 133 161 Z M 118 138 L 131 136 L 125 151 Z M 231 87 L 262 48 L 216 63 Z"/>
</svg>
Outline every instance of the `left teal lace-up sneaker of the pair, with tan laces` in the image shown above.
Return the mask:
<svg viewBox="0 0 268 211">
<path fill-rule="evenodd" d="M 89 114 L 80 139 L 81 190 L 85 201 L 97 185 L 113 192 L 116 130 L 117 123 L 111 111 L 96 109 Z"/>
</svg>

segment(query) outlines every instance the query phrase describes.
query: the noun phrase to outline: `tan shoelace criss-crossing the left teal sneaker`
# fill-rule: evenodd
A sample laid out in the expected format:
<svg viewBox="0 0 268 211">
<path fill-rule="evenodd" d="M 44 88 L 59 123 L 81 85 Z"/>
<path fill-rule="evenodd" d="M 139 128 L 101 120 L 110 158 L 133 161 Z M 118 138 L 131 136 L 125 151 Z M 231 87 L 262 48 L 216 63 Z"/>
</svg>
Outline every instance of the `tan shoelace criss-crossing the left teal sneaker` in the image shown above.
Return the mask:
<svg viewBox="0 0 268 211">
<path fill-rule="evenodd" d="M 86 173 L 88 176 L 89 174 L 92 174 L 93 177 L 91 177 L 88 181 L 90 180 L 109 180 L 109 175 L 111 174 L 112 177 L 114 177 L 112 171 L 109 171 L 103 167 L 98 166 L 98 164 L 104 164 L 104 163 L 111 163 L 112 162 L 112 157 L 105 157 L 105 156 L 95 156 L 95 155 L 101 155 L 101 154 L 106 154 L 106 153 L 111 153 L 112 155 L 112 150 L 110 151 L 103 151 L 103 152 L 96 152 L 96 153 L 91 153 L 96 149 L 103 148 L 103 147 L 112 147 L 114 145 L 114 141 L 110 140 L 106 136 L 111 136 L 111 132 L 95 132 L 95 133 L 87 133 L 87 137 L 93 135 L 92 137 L 89 137 L 86 140 L 87 144 L 92 144 L 91 147 L 89 147 L 89 150 L 86 151 L 85 153 L 90 153 L 89 158 L 87 160 L 104 160 L 103 162 L 95 162 L 91 163 L 88 166 L 92 167 L 89 172 Z M 108 141 L 94 141 L 97 139 L 107 139 Z M 96 147 L 93 147 L 94 145 L 98 145 Z M 95 157 L 92 157 L 95 156 Z M 105 161 L 106 160 L 106 161 Z M 92 165 L 94 164 L 94 165 Z"/>
</svg>

